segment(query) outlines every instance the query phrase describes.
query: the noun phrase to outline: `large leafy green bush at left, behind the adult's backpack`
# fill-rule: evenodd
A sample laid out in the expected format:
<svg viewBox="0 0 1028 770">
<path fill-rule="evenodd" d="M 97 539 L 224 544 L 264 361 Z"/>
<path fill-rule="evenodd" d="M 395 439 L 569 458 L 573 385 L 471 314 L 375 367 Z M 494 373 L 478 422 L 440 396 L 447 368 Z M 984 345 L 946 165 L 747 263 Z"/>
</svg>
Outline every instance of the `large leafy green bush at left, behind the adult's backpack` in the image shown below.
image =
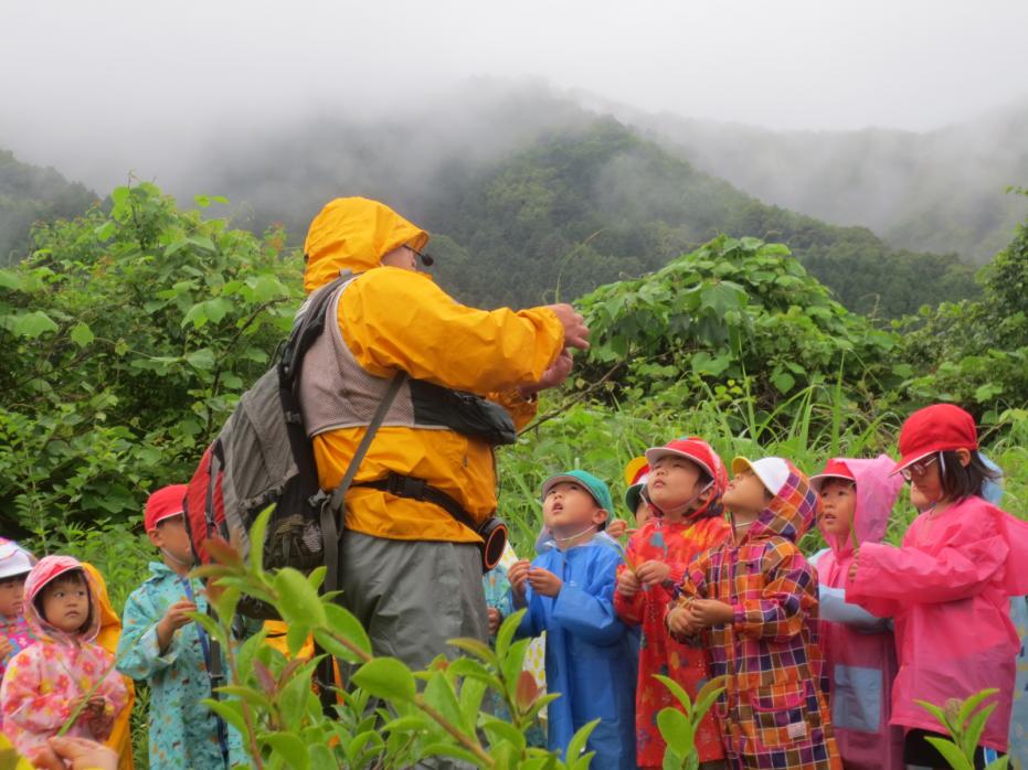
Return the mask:
<svg viewBox="0 0 1028 770">
<path fill-rule="evenodd" d="M 299 301 L 280 233 L 179 211 L 147 183 L 112 202 L 40 227 L 32 256 L 0 270 L 9 528 L 121 521 L 188 479 Z"/>
</svg>

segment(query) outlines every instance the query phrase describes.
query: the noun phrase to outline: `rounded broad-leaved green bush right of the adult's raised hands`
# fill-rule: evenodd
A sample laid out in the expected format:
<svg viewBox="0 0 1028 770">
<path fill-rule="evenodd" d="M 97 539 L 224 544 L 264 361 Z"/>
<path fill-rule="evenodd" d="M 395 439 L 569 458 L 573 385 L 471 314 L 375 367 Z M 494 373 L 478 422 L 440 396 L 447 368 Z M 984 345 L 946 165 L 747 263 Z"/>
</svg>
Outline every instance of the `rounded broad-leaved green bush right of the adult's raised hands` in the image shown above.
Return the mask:
<svg viewBox="0 0 1028 770">
<path fill-rule="evenodd" d="M 581 307 L 593 335 L 577 385 L 613 370 L 615 397 L 685 383 L 697 403 L 746 383 L 772 410 L 808 384 L 836 381 L 869 403 L 894 377 L 893 335 L 833 300 L 785 246 L 755 238 L 720 236 L 653 275 L 601 287 Z"/>
</svg>

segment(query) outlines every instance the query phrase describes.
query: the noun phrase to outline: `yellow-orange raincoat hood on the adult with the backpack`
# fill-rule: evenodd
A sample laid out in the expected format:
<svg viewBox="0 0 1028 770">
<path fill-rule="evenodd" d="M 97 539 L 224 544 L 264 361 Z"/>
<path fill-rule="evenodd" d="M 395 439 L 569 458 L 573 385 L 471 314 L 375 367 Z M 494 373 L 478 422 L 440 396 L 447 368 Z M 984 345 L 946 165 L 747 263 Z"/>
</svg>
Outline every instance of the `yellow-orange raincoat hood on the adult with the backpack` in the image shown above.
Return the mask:
<svg viewBox="0 0 1028 770">
<path fill-rule="evenodd" d="M 426 243 L 428 233 L 384 203 L 337 197 L 307 232 L 304 289 L 310 293 L 338 278 L 341 270 L 358 274 L 380 267 L 383 256 L 404 244 L 420 252 Z"/>
</svg>

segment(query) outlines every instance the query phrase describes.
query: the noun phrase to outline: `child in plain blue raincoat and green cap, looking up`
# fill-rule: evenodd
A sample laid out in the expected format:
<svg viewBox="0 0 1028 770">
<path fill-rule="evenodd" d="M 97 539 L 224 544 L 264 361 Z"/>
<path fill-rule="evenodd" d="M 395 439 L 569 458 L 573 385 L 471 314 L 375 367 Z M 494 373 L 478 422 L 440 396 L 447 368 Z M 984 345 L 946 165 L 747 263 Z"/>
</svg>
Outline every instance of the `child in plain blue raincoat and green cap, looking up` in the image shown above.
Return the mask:
<svg viewBox="0 0 1028 770">
<path fill-rule="evenodd" d="M 529 565 L 510 567 L 516 608 L 527 607 L 518 633 L 547 632 L 549 747 L 563 751 L 582 726 L 598 718 L 586 750 L 595 770 L 635 767 L 635 635 L 614 612 L 621 547 L 603 532 L 611 492 L 585 471 L 547 480 L 542 488 L 548 537 Z"/>
</svg>

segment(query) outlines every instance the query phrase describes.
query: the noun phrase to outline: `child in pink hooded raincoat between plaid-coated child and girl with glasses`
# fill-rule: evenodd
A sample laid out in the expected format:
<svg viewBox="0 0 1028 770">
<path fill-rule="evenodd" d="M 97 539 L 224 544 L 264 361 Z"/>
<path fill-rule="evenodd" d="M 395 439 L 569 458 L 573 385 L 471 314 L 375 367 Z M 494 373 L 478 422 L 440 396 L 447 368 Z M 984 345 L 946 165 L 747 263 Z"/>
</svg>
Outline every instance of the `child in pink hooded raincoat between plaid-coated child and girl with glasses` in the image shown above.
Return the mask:
<svg viewBox="0 0 1028 770">
<path fill-rule="evenodd" d="M 889 725 L 895 639 L 888 619 L 846 601 L 856 543 L 881 543 L 903 480 L 892 458 L 829 460 L 810 478 L 828 548 L 815 554 L 820 646 L 831 687 L 831 724 L 848 770 L 903 770 L 903 730 Z"/>
</svg>

